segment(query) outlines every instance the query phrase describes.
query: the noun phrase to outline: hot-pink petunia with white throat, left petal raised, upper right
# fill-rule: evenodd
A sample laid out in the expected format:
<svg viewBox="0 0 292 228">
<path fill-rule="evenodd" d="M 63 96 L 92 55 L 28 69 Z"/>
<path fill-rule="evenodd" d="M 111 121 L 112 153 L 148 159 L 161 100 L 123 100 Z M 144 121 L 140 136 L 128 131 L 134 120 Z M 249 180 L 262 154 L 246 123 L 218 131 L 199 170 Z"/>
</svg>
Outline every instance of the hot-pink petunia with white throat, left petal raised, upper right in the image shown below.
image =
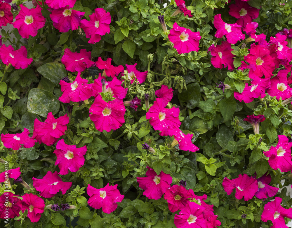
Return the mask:
<svg viewBox="0 0 292 228">
<path fill-rule="evenodd" d="M 215 37 L 222 38 L 226 36 L 228 43 L 237 43 L 239 40 L 243 40 L 244 34 L 241 32 L 241 25 L 238 24 L 227 24 L 221 19 L 221 14 L 217 14 L 214 17 L 214 26 L 217 29 Z"/>
</svg>

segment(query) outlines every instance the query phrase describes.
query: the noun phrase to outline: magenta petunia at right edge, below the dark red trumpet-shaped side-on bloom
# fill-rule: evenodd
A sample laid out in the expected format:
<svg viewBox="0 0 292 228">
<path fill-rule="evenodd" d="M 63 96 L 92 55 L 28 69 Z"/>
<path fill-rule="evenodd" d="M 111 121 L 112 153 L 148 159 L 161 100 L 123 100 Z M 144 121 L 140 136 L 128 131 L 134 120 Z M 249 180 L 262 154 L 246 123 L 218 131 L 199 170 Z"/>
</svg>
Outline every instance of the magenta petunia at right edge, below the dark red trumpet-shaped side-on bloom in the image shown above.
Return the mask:
<svg viewBox="0 0 292 228">
<path fill-rule="evenodd" d="M 281 172 L 292 171 L 291 146 L 287 136 L 279 135 L 277 146 L 272 146 L 269 151 L 263 152 L 269 158 L 269 165 L 274 169 L 280 169 Z"/>
</svg>

